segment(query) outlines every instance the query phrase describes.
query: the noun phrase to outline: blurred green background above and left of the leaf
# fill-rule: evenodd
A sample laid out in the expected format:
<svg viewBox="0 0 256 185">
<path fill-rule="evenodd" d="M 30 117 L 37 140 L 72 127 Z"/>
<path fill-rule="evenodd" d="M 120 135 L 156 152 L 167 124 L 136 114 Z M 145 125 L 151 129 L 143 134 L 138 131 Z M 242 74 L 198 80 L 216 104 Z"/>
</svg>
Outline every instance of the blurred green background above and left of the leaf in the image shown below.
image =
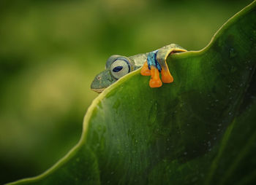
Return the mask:
<svg viewBox="0 0 256 185">
<path fill-rule="evenodd" d="M 78 142 L 110 55 L 200 50 L 241 1 L 0 2 L 0 184 L 50 168 Z"/>
</svg>

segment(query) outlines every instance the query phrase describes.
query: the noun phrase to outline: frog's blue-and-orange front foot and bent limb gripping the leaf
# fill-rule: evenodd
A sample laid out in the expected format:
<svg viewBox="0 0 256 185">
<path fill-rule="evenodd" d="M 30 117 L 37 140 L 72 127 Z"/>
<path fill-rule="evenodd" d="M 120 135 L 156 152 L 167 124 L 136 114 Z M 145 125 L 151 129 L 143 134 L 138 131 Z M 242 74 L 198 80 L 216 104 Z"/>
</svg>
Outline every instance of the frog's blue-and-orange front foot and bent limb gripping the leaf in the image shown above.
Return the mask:
<svg viewBox="0 0 256 185">
<path fill-rule="evenodd" d="M 173 76 L 170 74 L 169 68 L 166 63 L 166 58 L 168 55 L 174 52 L 185 52 L 183 48 L 173 48 L 171 45 L 167 47 L 162 47 L 154 52 L 149 52 L 146 62 L 141 68 L 140 74 L 143 76 L 151 76 L 149 81 L 149 86 L 161 87 L 163 83 L 173 82 Z M 159 77 L 161 73 L 162 81 Z"/>
</svg>

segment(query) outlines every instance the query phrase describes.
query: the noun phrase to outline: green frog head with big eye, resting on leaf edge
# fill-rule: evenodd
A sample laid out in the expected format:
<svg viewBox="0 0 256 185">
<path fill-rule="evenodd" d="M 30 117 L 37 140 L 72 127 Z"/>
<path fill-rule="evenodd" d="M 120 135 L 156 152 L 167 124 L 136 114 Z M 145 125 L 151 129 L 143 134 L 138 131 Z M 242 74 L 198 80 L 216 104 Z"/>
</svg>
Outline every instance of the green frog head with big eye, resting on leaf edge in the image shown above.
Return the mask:
<svg viewBox="0 0 256 185">
<path fill-rule="evenodd" d="M 135 63 L 121 55 L 112 55 L 106 62 L 105 70 L 97 74 L 91 83 L 91 90 L 102 92 L 122 76 L 134 71 Z"/>
</svg>

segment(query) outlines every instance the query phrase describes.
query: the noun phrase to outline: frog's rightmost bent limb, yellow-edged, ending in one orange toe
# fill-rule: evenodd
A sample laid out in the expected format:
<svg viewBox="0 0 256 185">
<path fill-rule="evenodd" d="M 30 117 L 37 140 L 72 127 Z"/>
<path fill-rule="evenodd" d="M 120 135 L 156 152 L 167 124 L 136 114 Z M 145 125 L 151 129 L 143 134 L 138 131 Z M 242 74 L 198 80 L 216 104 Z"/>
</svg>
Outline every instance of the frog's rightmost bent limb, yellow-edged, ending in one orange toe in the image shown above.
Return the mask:
<svg viewBox="0 0 256 185">
<path fill-rule="evenodd" d="M 157 52 L 157 61 L 160 64 L 162 70 L 162 82 L 164 83 L 171 83 L 173 82 L 173 76 L 170 74 L 169 68 L 166 63 L 166 59 L 168 55 L 174 52 L 186 52 L 187 50 L 180 49 L 180 48 L 173 48 L 173 47 L 162 47 Z"/>
</svg>

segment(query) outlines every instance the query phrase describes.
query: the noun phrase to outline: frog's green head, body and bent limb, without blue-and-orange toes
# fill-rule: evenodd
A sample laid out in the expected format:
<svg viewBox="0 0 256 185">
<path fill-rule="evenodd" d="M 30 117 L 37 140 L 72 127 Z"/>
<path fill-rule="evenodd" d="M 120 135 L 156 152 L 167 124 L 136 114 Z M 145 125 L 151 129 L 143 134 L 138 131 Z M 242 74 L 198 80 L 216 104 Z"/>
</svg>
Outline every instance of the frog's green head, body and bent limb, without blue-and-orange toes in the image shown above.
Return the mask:
<svg viewBox="0 0 256 185">
<path fill-rule="evenodd" d="M 158 61 L 162 67 L 167 67 L 165 65 L 165 59 L 167 58 L 167 55 L 170 54 L 170 52 L 184 52 L 184 48 L 178 46 L 178 44 L 169 44 L 165 47 L 160 48 L 157 50 L 159 54 L 157 54 Z M 95 92 L 102 92 L 110 86 L 110 84 L 113 84 L 116 82 L 119 78 L 122 76 L 125 76 L 126 74 L 135 71 L 136 69 L 143 66 L 143 64 L 146 62 L 148 54 L 150 52 L 146 52 L 144 54 L 138 54 L 131 57 L 124 57 L 121 55 L 112 55 L 110 58 L 108 58 L 105 66 L 105 70 L 101 73 L 97 74 L 95 76 L 94 81 L 91 83 L 91 90 L 94 90 Z M 121 61 L 120 61 L 121 60 Z M 124 61 L 122 61 L 124 60 Z M 118 62 L 117 62 L 118 61 Z M 162 62 L 161 62 L 162 61 Z M 119 66 L 123 66 L 121 71 L 118 71 L 117 73 L 113 72 L 115 71 L 115 63 L 120 63 Z M 118 65 L 117 65 L 118 66 Z M 117 70 L 120 70 L 120 68 Z M 123 71 L 123 72 L 122 72 Z M 122 72 L 121 74 L 118 74 Z M 117 75 L 115 75 L 117 74 Z"/>
</svg>

